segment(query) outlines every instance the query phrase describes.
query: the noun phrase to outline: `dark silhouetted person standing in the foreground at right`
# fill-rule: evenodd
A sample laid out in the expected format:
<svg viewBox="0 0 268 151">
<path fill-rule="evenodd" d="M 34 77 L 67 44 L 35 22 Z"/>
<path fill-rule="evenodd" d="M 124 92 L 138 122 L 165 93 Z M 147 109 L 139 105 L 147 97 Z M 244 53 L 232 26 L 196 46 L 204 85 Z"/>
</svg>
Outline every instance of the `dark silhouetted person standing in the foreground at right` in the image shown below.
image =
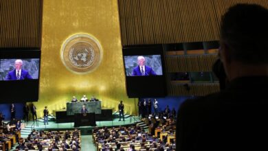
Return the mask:
<svg viewBox="0 0 268 151">
<path fill-rule="evenodd" d="M 177 150 L 268 150 L 268 10 L 232 6 L 221 19 L 221 92 L 183 102 Z"/>
</svg>

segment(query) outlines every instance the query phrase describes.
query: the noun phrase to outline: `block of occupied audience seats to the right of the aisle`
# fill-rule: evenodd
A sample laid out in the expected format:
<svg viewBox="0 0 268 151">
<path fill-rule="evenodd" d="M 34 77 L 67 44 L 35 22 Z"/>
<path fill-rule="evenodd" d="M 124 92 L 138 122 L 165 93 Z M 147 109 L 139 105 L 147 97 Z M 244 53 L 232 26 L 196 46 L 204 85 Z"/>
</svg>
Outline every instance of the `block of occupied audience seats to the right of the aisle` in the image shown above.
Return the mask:
<svg viewBox="0 0 268 151">
<path fill-rule="evenodd" d="M 131 146 L 134 146 L 135 150 L 159 150 L 159 148 L 175 150 L 175 122 L 172 119 L 157 119 L 153 123 L 159 125 L 157 128 L 153 128 L 153 124 L 150 125 L 149 132 L 145 132 L 139 126 L 96 128 L 92 130 L 93 142 L 98 151 L 104 148 L 115 150 L 118 146 L 124 150 L 129 150 Z M 155 132 L 153 136 L 150 135 L 152 130 Z M 120 145 L 117 146 L 117 144 Z"/>
</svg>

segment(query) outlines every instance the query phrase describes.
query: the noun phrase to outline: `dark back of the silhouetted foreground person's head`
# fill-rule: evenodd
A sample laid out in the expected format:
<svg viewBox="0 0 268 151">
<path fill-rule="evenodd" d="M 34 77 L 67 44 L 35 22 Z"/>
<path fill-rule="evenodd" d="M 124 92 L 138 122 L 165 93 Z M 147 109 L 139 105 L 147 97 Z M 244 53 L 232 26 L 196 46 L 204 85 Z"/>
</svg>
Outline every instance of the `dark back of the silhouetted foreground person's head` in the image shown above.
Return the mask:
<svg viewBox="0 0 268 151">
<path fill-rule="evenodd" d="M 228 80 L 267 75 L 268 10 L 237 4 L 223 15 L 219 54 Z"/>
</svg>

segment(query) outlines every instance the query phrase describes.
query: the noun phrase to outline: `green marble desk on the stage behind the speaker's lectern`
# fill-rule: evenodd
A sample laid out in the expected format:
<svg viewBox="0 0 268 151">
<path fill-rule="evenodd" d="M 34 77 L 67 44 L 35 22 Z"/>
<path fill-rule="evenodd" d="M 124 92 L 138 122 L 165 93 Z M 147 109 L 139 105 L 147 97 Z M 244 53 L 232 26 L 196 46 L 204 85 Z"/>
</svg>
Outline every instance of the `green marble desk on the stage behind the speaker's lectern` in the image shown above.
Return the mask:
<svg viewBox="0 0 268 151">
<path fill-rule="evenodd" d="M 88 113 L 101 114 L 101 102 L 67 102 L 67 115 L 74 115 L 76 113 L 81 113 L 82 105 L 85 105 Z"/>
</svg>

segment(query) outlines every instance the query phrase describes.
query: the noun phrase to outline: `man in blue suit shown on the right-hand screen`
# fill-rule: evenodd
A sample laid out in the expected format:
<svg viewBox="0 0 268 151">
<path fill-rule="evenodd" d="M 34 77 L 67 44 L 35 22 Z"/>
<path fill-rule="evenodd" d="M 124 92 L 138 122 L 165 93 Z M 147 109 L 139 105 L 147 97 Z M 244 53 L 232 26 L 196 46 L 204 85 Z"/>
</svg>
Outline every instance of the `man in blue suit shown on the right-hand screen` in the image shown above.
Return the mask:
<svg viewBox="0 0 268 151">
<path fill-rule="evenodd" d="M 156 75 L 155 71 L 153 71 L 151 67 L 145 65 L 144 56 L 137 57 L 137 64 L 138 66 L 133 69 L 131 75 Z"/>
</svg>

